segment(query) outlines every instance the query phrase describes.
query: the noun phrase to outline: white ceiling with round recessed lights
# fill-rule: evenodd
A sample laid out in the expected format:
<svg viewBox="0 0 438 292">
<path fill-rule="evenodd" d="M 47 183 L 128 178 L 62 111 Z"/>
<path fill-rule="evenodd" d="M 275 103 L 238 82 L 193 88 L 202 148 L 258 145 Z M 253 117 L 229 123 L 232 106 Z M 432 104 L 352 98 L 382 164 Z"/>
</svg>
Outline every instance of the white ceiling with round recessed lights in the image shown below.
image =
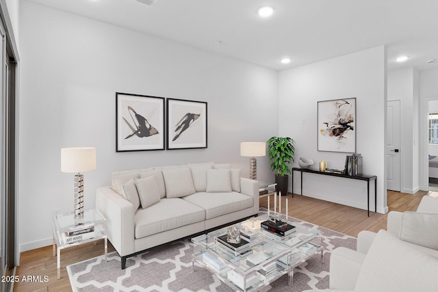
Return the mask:
<svg viewBox="0 0 438 292">
<path fill-rule="evenodd" d="M 29 1 L 274 70 L 380 45 L 388 70 L 438 68 L 435 0 Z M 264 5 L 274 8 L 269 18 L 257 14 Z M 396 62 L 400 55 L 407 62 Z"/>
</svg>

